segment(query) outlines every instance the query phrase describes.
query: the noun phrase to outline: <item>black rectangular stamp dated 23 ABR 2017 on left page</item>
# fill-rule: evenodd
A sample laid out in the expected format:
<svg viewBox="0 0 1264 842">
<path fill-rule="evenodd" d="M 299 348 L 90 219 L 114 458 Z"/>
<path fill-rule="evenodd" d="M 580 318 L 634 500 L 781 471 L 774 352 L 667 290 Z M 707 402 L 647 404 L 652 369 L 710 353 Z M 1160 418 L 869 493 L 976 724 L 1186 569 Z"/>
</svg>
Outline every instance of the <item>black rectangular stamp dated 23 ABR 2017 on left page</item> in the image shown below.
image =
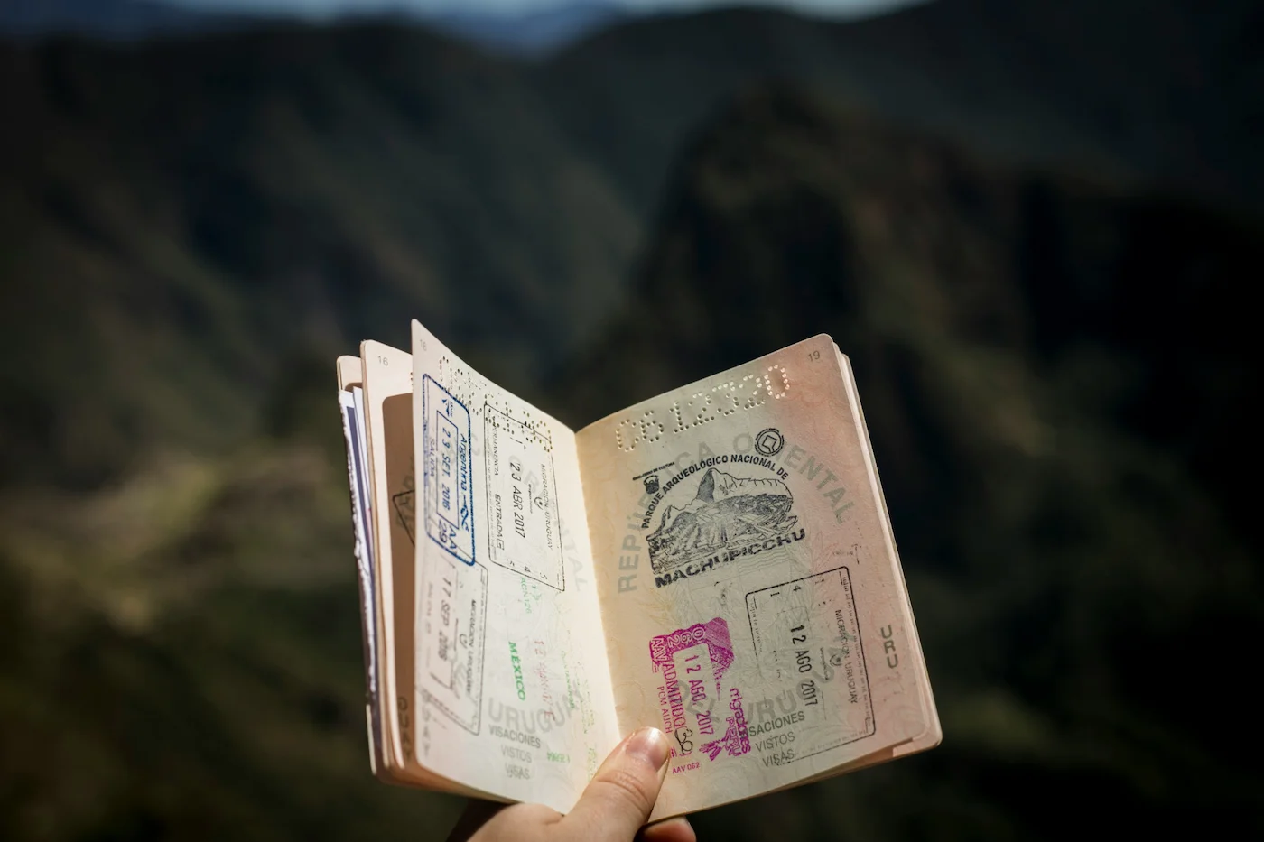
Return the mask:
<svg viewBox="0 0 1264 842">
<path fill-rule="evenodd" d="M 552 446 L 537 427 L 490 403 L 483 422 L 487 552 L 503 568 L 565 590 Z"/>
</svg>

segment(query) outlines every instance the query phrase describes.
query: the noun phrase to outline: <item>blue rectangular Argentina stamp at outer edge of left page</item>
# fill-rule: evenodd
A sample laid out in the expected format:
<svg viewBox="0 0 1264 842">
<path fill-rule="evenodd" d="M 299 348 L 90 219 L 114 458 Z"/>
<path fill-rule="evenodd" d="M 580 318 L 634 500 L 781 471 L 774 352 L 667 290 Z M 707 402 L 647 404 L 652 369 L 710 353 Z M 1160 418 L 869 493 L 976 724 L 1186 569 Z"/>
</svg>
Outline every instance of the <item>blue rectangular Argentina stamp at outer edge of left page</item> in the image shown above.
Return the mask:
<svg viewBox="0 0 1264 842">
<path fill-rule="evenodd" d="M 474 564 L 474 454 L 470 412 L 430 374 L 422 377 L 426 534 Z"/>
</svg>

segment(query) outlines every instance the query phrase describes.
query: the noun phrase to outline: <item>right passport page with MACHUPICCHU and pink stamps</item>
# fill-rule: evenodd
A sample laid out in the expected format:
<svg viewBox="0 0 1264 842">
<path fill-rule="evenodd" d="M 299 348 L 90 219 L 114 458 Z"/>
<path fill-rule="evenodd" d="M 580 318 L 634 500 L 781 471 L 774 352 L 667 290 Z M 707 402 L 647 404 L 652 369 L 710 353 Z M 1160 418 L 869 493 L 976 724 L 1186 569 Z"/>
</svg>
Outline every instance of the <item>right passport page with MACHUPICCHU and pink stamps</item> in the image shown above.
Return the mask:
<svg viewBox="0 0 1264 842">
<path fill-rule="evenodd" d="M 672 743 L 655 819 L 924 737 L 929 686 L 828 336 L 576 435 L 619 731 Z"/>
</svg>

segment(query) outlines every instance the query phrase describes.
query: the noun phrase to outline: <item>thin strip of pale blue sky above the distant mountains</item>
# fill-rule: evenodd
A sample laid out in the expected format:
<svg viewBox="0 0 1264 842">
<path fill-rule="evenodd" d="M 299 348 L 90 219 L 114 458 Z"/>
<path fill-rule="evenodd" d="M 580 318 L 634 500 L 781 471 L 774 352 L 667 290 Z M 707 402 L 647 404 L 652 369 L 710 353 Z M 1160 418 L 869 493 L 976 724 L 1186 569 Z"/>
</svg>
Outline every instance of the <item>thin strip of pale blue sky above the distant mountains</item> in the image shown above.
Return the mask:
<svg viewBox="0 0 1264 842">
<path fill-rule="evenodd" d="M 575 5 L 576 0 L 167 0 L 177 5 L 222 11 L 283 13 L 330 18 L 350 13 L 408 10 L 418 14 L 444 11 L 523 13 Z M 600 0 L 586 0 L 589 3 Z M 913 5 L 918 0 L 607 0 L 632 11 L 666 11 L 707 6 L 761 5 L 796 9 L 830 16 L 872 14 Z"/>
</svg>

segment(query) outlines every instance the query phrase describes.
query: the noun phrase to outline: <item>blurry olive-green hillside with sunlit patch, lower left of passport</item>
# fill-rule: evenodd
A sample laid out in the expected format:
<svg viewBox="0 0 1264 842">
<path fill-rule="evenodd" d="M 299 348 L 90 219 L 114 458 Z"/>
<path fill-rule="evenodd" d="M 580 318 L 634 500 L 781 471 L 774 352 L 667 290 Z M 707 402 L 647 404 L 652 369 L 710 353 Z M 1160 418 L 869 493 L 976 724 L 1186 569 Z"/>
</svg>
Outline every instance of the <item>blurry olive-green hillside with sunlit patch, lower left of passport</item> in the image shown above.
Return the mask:
<svg viewBox="0 0 1264 842">
<path fill-rule="evenodd" d="M 329 449 L 153 460 L 92 497 L 0 494 L 0 838 L 360 839 L 455 822 L 455 799 L 368 771 L 331 434 Z"/>
</svg>

